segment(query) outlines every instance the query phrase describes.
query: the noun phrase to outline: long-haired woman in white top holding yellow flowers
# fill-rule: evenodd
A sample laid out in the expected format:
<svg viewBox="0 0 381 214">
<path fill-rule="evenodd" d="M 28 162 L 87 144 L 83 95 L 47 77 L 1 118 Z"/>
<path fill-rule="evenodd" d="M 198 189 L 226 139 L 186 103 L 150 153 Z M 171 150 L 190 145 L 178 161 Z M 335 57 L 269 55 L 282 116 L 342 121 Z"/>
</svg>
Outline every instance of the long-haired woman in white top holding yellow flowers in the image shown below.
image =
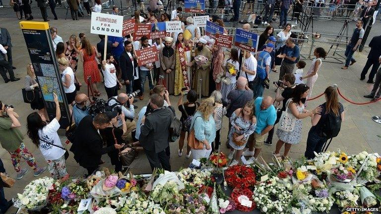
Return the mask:
<svg viewBox="0 0 381 214">
<path fill-rule="evenodd" d="M 237 72 L 240 70 L 240 60 L 238 58 L 237 49 L 232 49 L 230 51 L 230 57 L 228 58 L 228 60 L 226 60 L 222 68 L 225 71 L 225 76 L 230 78 L 230 84 L 226 84 L 225 82 L 221 83 L 222 99 L 226 100 L 226 97 L 228 96 L 229 92 L 236 88 L 236 75 Z"/>
</svg>

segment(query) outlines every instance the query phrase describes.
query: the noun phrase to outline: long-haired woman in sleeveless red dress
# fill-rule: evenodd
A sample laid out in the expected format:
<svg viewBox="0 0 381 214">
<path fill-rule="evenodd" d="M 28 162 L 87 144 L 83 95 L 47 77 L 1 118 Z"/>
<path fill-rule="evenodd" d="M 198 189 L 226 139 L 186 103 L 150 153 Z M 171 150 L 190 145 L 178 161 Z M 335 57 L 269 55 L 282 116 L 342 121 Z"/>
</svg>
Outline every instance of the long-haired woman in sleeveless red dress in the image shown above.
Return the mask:
<svg viewBox="0 0 381 214">
<path fill-rule="evenodd" d="M 96 58 L 100 57 L 101 54 L 95 46 L 91 45 L 90 41 L 86 38 L 82 38 L 81 47 L 81 61 L 83 62 L 83 78 L 85 83 L 87 82 L 87 77 L 91 77 L 91 84 L 94 90 L 94 96 L 100 96 L 101 93 L 98 91 L 97 82 L 101 81 L 101 76 L 99 74 L 99 68 Z"/>
</svg>

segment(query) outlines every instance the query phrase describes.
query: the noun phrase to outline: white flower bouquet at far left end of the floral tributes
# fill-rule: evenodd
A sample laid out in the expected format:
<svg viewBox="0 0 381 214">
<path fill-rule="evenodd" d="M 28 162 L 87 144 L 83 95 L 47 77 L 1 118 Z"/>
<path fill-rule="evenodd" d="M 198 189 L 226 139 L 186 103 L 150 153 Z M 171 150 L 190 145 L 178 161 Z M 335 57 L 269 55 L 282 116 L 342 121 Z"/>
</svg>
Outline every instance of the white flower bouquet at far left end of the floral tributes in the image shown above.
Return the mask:
<svg viewBox="0 0 381 214">
<path fill-rule="evenodd" d="M 54 179 L 43 177 L 30 182 L 22 194 L 17 193 L 15 207 L 26 207 L 28 210 L 40 211 L 47 204 L 49 188 Z"/>
</svg>

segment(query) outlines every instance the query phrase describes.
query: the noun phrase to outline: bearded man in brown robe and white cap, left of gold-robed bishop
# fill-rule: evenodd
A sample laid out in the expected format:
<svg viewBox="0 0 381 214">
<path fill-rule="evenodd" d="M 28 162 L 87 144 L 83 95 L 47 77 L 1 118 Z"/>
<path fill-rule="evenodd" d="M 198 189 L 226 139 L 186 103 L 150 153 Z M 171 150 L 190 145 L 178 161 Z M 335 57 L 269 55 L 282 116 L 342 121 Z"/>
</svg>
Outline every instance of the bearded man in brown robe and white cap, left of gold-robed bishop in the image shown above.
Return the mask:
<svg viewBox="0 0 381 214">
<path fill-rule="evenodd" d="M 172 37 L 165 37 L 165 46 L 160 50 L 160 75 L 169 94 L 175 93 L 175 49 L 172 48 Z"/>
</svg>

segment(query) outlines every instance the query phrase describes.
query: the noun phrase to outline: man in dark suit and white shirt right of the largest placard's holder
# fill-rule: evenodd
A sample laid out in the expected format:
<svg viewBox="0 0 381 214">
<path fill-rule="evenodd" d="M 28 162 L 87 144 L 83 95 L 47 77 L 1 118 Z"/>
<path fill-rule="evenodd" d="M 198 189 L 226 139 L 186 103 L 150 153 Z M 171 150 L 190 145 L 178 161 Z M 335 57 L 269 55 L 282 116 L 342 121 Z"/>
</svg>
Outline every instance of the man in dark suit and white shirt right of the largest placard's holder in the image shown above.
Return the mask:
<svg viewBox="0 0 381 214">
<path fill-rule="evenodd" d="M 137 62 L 132 53 L 132 43 L 128 40 L 124 43 L 125 51 L 122 53 L 120 60 L 122 79 L 125 81 L 126 94 L 132 93 L 133 90 L 133 76 L 135 76 L 135 67 Z"/>
</svg>

